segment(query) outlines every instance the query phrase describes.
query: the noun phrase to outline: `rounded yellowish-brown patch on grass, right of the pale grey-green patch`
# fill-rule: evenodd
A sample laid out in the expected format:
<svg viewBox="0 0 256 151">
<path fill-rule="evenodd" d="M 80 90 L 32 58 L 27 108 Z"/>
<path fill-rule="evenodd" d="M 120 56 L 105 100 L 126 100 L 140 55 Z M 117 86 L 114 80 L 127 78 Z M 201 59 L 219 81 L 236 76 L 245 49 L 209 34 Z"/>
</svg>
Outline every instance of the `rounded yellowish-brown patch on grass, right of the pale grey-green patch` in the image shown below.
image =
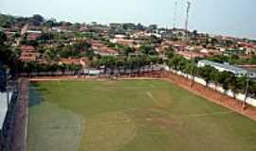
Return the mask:
<svg viewBox="0 0 256 151">
<path fill-rule="evenodd" d="M 85 124 L 80 150 L 118 151 L 137 136 L 136 122 L 122 112 L 106 112 Z"/>
</svg>

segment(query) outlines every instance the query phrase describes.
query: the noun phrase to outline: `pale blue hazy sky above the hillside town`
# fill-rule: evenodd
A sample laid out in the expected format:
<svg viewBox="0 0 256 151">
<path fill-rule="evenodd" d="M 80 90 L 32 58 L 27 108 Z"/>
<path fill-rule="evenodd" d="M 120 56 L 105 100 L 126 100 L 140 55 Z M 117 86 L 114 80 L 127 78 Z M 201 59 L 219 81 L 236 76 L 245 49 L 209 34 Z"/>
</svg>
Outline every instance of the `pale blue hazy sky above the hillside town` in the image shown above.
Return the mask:
<svg viewBox="0 0 256 151">
<path fill-rule="evenodd" d="M 174 22 L 177 1 L 176 22 Z M 256 39 L 256 0 L 190 0 L 190 30 Z M 0 12 L 79 23 L 185 26 L 186 0 L 0 0 Z"/>
</svg>

